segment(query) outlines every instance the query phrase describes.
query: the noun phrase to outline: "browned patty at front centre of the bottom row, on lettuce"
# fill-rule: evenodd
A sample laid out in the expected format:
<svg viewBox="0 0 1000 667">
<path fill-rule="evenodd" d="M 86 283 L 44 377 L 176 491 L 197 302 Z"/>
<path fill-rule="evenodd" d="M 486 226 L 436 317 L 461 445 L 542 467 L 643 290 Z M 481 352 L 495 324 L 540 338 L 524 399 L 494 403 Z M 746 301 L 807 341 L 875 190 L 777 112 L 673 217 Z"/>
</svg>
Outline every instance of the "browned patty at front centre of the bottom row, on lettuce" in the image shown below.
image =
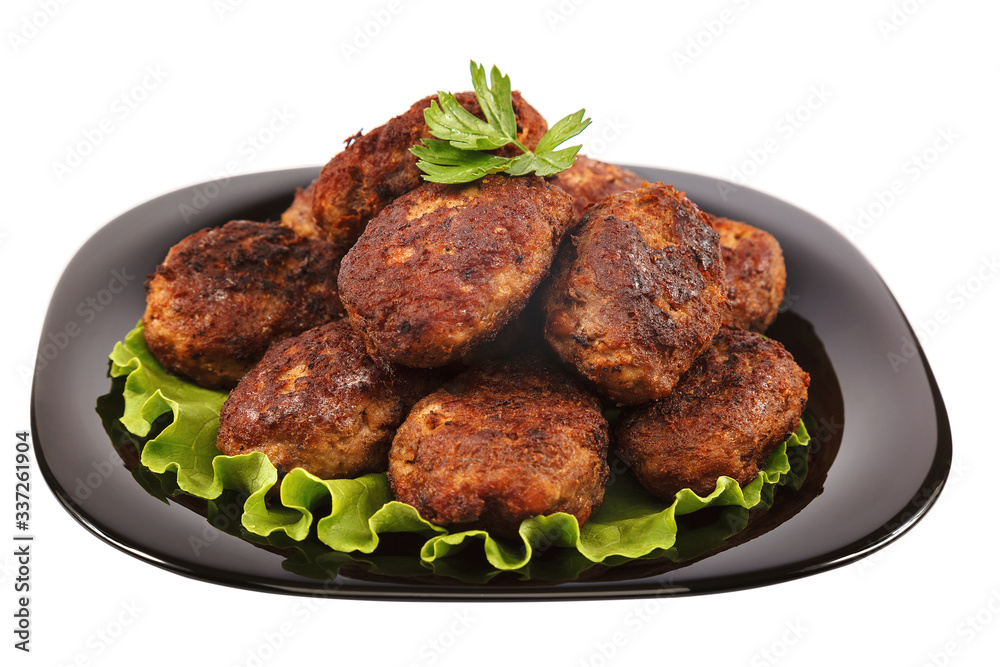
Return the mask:
<svg viewBox="0 0 1000 667">
<path fill-rule="evenodd" d="M 489 362 L 418 402 L 396 433 L 389 482 L 439 525 L 513 536 L 566 512 L 582 525 L 604 499 L 600 402 L 538 359 Z"/>
</svg>

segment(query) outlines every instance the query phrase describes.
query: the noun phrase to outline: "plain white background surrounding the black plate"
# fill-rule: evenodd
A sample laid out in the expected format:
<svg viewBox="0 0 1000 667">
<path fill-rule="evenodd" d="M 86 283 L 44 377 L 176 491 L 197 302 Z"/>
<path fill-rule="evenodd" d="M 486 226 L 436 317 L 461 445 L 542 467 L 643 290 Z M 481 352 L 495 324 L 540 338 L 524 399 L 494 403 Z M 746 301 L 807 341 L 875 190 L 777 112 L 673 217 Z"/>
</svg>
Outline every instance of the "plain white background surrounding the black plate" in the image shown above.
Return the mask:
<svg viewBox="0 0 1000 667">
<path fill-rule="evenodd" d="M 1000 278 L 990 262 L 1000 241 L 991 196 L 1000 149 L 1000 5 L 151 6 L 3 4 L 0 440 L 13 444 L 12 434 L 28 427 L 24 375 L 48 299 L 98 228 L 152 197 L 210 179 L 228 162 L 240 173 L 320 165 L 358 129 L 436 90 L 467 89 L 473 58 L 497 63 L 550 122 L 585 106 L 594 119 L 584 135 L 592 155 L 746 178 L 845 233 L 853 227 L 854 243 L 914 326 L 928 331 L 924 346 L 950 411 L 955 464 L 943 497 L 910 533 L 832 572 L 647 603 L 517 604 L 313 602 L 188 580 L 86 532 L 36 470 L 34 650 L 29 656 L 11 647 L 14 561 L 5 548 L 4 664 L 228 667 L 256 664 L 260 655 L 263 664 L 282 665 L 995 659 Z M 373 36 L 362 37 L 366 29 Z M 791 124 L 786 115 L 796 112 Z M 250 146 L 249 137 L 266 137 L 276 113 L 291 116 L 287 126 L 259 149 Z M 88 139 L 98 135 L 99 142 Z M 81 145 L 88 154 L 70 166 L 69 153 Z M 761 159 L 765 145 L 773 150 Z M 932 163 L 917 167 L 913 157 L 925 153 Z M 894 181 L 900 194 L 880 209 L 880 193 L 888 202 Z M 859 225 L 859 209 L 876 215 Z M 959 298 L 960 289 L 969 298 Z M 927 324 L 935 314 L 944 321 L 936 328 Z M 4 521 L 13 513 L 8 454 L 0 456 Z M 637 610 L 646 620 L 637 621 Z M 108 632 L 116 637 L 100 639 Z M 616 633 L 621 641 L 605 658 L 602 647 L 610 653 Z"/>
</svg>

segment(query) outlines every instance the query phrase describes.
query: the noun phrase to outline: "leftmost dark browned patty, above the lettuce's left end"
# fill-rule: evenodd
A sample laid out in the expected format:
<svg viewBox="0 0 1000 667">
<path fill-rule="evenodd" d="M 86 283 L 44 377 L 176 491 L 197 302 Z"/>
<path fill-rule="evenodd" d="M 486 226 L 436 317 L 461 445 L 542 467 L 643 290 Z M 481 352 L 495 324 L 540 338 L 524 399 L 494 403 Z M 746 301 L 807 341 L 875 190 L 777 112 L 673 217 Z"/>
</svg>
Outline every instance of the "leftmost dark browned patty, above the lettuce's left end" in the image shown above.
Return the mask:
<svg viewBox="0 0 1000 667">
<path fill-rule="evenodd" d="M 170 372 L 232 388 L 275 341 L 343 315 L 340 256 L 274 223 L 196 232 L 146 279 L 146 344 Z"/>
</svg>

